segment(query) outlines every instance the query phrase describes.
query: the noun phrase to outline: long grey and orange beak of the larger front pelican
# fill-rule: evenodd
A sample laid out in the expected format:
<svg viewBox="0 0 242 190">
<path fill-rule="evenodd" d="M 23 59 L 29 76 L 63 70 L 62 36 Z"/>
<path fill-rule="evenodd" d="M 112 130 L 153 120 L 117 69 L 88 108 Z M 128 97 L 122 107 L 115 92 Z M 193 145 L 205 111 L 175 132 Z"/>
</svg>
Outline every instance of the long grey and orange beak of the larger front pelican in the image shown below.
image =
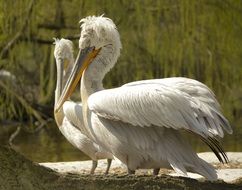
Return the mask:
<svg viewBox="0 0 242 190">
<path fill-rule="evenodd" d="M 95 49 L 94 47 L 87 47 L 79 51 L 76 58 L 76 62 L 72 68 L 71 74 L 67 79 L 66 85 L 62 91 L 61 97 L 59 98 L 57 105 L 55 107 L 55 113 L 60 110 L 64 102 L 71 96 L 74 92 L 76 85 L 81 79 L 82 73 L 92 62 L 92 60 L 97 56 L 100 49 Z"/>
</svg>

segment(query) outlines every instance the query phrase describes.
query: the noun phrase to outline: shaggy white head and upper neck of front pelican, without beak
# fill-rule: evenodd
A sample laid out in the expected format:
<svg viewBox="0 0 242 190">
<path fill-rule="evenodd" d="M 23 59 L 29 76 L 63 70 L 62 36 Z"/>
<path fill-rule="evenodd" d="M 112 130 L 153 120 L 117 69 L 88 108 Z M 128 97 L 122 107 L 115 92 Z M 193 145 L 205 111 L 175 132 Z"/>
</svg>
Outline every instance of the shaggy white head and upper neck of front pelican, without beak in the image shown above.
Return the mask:
<svg viewBox="0 0 242 190">
<path fill-rule="evenodd" d="M 101 48 L 92 64 L 88 66 L 88 75 L 92 80 L 102 80 L 120 55 L 122 45 L 119 33 L 113 21 L 103 16 L 89 16 L 82 19 L 80 23 L 79 48 Z"/>
</svg>

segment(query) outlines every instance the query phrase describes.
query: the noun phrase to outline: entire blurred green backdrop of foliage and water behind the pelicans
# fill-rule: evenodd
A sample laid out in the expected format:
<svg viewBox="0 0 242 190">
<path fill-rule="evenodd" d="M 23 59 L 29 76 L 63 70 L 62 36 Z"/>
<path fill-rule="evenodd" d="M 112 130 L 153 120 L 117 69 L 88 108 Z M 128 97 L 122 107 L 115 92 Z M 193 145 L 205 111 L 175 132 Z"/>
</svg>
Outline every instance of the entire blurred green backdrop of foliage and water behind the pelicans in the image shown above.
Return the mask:
<svg viewBox="0 0 242 190">
<path fill-rule="evenodd" d="M 222 142 L 225 150 L 242 151 L 240 0 L 0 0 L 0 143 L 17 129 L 13 146 L 32 160 L 87 159 L 50 121 L 53 38 L 71 39 L 77 53 L 79 20 L 103 13 L 116 23 L 123 44 L 105 87 L 151 78 L 197 79 L 215 92 L 233 126 L 234 134 Z M 209 150 L 191 141 L 197 151 Z"/>
</svg>

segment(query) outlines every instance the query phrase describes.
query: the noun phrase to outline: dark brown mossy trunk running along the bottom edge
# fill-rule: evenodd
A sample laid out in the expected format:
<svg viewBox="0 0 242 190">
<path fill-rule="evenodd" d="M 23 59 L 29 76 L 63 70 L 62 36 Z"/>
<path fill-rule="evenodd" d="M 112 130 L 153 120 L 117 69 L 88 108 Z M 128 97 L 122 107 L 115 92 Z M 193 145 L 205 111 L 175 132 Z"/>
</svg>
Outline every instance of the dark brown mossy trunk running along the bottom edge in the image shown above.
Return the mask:
<svg viewBox="0 0 242 190">
<path fill-rule="evenodd" d="M 60 174 L 0 145 L 1 190 L 242 189 L 242 182 L 197 181 L 184 177 Z"/>
</svg>

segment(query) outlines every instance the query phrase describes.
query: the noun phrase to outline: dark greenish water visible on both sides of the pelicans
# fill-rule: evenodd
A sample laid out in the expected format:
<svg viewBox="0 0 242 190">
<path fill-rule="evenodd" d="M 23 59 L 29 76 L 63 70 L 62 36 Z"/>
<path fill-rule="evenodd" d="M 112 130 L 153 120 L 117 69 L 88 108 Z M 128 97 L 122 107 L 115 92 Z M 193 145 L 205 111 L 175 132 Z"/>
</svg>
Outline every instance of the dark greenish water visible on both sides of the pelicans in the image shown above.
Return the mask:
<svg viewBox="0 0 242 190">
<path fill-rule="evenodd" d="M 222 140 L 225 151 L 242 152 L 242 126 L 233 126 L 233 135 L 226 135 Z M 5 135 L 5 141 L 8 135 Z M 187 137 L 197 152 L 210 151 L 199 139 Z M 0 140 L 1 141 L 1 140 Z M 30 134 L 21 130 L 13 141 L 14 148 L 27 158 L 36 162 L 75 161 L 89 159 L 74 148 L 58 131 L 55 124 L 50 124 L 38 133 Z"/>
</svg>

